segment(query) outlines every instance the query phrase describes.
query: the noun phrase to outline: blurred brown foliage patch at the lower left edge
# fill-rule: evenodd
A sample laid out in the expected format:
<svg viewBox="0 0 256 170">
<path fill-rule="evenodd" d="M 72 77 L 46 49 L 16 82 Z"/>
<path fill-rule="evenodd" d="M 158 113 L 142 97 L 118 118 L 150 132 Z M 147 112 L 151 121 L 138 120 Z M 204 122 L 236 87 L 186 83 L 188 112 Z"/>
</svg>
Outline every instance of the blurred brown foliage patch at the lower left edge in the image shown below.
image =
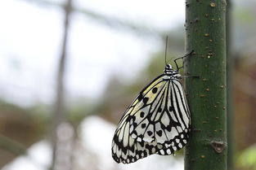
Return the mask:
<svg viewBox="0 0 256 170">
<path fill-rule="evenodd" d="M 0 167 L 17 155 L 25 154 L 25 149 L 45 134 L 45 119 L 33 111 L 0 102 Z"/>
</svg>

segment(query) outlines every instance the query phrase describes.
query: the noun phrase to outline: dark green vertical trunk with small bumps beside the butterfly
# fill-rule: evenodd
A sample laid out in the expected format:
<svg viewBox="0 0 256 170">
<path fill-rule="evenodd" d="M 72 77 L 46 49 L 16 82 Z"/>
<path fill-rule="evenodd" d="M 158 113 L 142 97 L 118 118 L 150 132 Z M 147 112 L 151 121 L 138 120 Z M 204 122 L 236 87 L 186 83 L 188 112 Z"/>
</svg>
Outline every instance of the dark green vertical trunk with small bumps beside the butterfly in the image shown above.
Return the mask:
<svg viewBox="0 0 256 170">
<path fill-rule="evenodd" d="M 186 170 L 227 169 L 226 2 L 186 1 L 187 101 L 191 135 Z"/>
</svg>

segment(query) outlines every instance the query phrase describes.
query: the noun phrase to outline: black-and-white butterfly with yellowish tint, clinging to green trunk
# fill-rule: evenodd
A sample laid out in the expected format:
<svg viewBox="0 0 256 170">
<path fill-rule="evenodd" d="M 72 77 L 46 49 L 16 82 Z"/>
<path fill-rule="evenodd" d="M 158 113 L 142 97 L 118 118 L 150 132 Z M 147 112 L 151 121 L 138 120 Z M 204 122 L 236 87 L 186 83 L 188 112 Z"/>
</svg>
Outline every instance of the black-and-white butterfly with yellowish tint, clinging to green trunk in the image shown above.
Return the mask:
<svg viewBox="0 0 256 170">
<path fill-rule="evenodd" d="M 142 89 L 124 112 L 112 141 L 117 163 L 133 163 L 153 154 L 174 155 L 186 145 L 191 116 L 179 69 L 166 64 L 164 73 Z"/>
</svg>

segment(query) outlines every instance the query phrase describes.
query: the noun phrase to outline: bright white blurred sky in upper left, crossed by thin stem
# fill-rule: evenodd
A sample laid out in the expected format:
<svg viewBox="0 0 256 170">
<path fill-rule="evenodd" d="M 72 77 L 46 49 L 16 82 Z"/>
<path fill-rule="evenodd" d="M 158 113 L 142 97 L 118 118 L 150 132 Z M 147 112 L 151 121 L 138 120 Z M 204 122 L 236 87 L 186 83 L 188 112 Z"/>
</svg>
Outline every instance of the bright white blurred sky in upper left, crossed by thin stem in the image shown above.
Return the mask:
<svg viewBox="0 0 256 170">
<path fill-rule="evenodd" d="M 31 2 L 0 2 L 0 95 L 21 106 L 52 103 L 63 31 L 61 8 Z M 184 24 L 184 3 L 74 0 L 74 7 L 164 31 Z M 99 97 L 112 74 L 132 81 L 162 45 L 158 37 L 110 28 L 74 13 L 65 77 L 69 97 Z"/>
</svg>

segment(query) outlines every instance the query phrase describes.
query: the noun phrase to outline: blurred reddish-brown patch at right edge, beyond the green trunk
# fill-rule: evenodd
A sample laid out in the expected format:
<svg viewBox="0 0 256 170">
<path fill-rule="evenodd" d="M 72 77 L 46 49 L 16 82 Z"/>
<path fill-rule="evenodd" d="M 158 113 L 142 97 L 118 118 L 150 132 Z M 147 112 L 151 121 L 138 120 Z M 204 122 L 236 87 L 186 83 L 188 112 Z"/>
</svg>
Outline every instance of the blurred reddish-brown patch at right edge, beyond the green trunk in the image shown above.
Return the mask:
<svg viewBox="0 0 256 170">
<path fill-rule="evenodd" d="M 235 141 L 238 151 L 244 150 L 256 142 L 256 136 L 253 135 L 256 130 L 256 63 L 253 63 L 251 59 L 240 60 L 240 63 L 236 65 L 235 72 Z M 248 60 L 251 64 L 248 64 Z"/>
</svg>

